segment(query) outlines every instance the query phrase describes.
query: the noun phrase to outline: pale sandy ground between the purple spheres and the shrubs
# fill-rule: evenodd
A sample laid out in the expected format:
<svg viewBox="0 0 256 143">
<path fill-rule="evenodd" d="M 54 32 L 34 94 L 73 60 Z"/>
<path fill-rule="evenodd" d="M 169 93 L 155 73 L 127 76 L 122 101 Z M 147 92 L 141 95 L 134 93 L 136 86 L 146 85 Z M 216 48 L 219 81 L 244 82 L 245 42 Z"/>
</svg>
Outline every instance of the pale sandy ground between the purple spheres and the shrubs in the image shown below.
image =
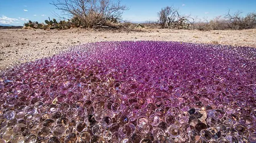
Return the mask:
<svg viewBox="0 0 256 143">
<path fill-rule="evenodd" d="M 256 47 L 256 29 L 242 31 L 188 31 L 140 29 L 106 31 L 73 28 L 63 31 L 42 29 L 0 30 L 0 71 L 20 63 L 49 57 L 74 45 L 98 41 L 183 41 Z"/>
</svg>

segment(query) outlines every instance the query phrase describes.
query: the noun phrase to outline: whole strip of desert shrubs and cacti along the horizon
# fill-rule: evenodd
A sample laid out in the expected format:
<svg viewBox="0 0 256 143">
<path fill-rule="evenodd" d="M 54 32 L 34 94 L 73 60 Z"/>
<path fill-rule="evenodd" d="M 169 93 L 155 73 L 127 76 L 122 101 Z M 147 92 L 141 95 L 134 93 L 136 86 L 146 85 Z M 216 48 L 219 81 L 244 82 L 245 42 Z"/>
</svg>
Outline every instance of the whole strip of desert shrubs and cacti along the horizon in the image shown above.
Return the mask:
<svg viewBox="0 0 256 143">
<path fill-rule="evenodd" d="M 198 29 L 200 31 L 226 30 L 226 29 L 253 29 L 256 28 L 256 13 L 250 12 L 242 16 L 241 11 L 233 14 L 217 16 L 212 20 L 197 20 L 191 15 L 181 15 L 174 6 L 166 6 L 158 12 L 158 20 L 134 24 L 122 20 L 122 14 L 128 10 L 121 1 L 111 0 L 57 0 L 50 3 L 57 10 L 63 13 L 64 17 L 45 20 L 45 23 L 28 21 L 24 23 L 24 28 L 39 29 L 69 29 L 80 28 L 116 28 L 116 29 L 141 29 L 141 28 L 169 28 L 169 29 Z"/>
</svg>

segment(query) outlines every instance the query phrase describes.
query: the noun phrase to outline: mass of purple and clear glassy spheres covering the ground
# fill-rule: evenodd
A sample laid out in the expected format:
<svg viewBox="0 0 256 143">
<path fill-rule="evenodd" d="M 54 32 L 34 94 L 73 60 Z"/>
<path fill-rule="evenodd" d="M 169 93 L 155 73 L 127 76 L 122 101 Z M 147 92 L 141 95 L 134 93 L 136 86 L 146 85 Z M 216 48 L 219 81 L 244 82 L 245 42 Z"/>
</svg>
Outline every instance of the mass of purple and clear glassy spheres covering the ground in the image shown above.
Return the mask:
<svg viewBox="0 0 256 143">
<path fill-rule="evenodd" d="M 0 74 L 0 142 L 255 142 L 256 49 L 96 42 Z"/>
</svg>

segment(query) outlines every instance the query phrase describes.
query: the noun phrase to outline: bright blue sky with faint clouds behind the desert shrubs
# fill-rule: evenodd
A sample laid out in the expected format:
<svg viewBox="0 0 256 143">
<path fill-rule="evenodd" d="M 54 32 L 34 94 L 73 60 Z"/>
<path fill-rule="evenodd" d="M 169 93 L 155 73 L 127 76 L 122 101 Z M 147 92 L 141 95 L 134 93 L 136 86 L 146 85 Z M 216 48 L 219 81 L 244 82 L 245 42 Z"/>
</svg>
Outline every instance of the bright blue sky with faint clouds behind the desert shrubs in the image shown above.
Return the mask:
<svg viewBox="0 0 256 143">
<path fill-rule="evenodd" d="M 60 14 L 60 11 L 49 4 L 52 0 L 0 1 L 0 24 L 23 25 L 28 20 L 42 23 L 48 17 L 56 18 L 55 12 Z M 231 13 L 240 10 L 243 15 L 256 12 L 255 0 L 122 0 L 122 4 L 129 7 L 123 14 L 123 20 L 127 21 L 156 21 L 157 12 L 166 6 L 174 6 L 180 14 L 190 14 L 201 20 L 225 15 L 228 10 Z"/>
</svg>

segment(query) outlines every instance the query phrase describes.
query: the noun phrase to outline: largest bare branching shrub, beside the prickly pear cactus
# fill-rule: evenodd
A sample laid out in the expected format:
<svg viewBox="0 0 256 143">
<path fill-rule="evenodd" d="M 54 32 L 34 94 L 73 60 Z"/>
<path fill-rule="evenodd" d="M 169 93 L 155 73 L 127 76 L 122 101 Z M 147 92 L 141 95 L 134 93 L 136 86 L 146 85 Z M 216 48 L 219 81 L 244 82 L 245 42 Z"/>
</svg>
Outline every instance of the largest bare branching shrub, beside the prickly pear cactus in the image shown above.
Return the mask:
<svg viewBox="0 0 256 143">
<path fill-rule="evenodd" d="M 113 3 L 111 0 L 56 0 L 50 4 L 63 15 L 79 19 L 84 27 L 105 25 L 107 21 L 117 22 L 127 10 L 121 1 Z"/>
</svg>

